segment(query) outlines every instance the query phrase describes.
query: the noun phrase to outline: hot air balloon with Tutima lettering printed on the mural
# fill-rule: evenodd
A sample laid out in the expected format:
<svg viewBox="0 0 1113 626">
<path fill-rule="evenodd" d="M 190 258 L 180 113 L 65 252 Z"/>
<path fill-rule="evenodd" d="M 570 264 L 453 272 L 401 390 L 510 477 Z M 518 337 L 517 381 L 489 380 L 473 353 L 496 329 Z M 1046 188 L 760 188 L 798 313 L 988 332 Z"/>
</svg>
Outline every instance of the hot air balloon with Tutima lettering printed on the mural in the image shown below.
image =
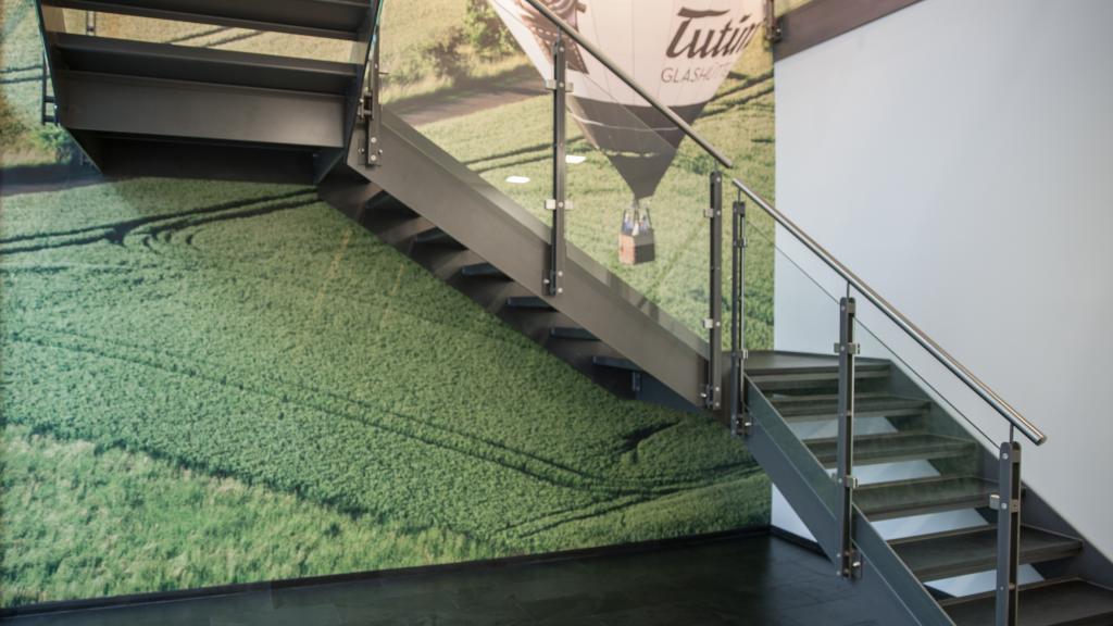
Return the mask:
<svg viewBox="0 0 1113 626">
<path fill-rule="evenodd" d="M 544 78 L 560 31 L 524 0 L 487 0 Z M 691 124 L 754 38 L 762 0 L 542 0 L 556 16 Z M 653 260 L 649 198 L 683 133 L 589 52 L 567 41 L 572 118 L 607 155 L 632 198 L 623 207 L 619 258 Z"/>
</svg>

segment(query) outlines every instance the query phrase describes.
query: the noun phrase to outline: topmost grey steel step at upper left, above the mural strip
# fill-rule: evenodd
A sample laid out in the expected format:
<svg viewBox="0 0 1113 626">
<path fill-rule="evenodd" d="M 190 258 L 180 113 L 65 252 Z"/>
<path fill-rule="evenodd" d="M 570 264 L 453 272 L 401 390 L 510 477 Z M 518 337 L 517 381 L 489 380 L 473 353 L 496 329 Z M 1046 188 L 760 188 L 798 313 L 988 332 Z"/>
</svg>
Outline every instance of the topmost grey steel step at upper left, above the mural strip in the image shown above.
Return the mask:
<svg viewBox="0 0 1113 626">
<path fill-rule="evenodd" d="M 357 39 L 366 0 L 45 0 L 53 7 L 326 37 Z"/>
</svg>

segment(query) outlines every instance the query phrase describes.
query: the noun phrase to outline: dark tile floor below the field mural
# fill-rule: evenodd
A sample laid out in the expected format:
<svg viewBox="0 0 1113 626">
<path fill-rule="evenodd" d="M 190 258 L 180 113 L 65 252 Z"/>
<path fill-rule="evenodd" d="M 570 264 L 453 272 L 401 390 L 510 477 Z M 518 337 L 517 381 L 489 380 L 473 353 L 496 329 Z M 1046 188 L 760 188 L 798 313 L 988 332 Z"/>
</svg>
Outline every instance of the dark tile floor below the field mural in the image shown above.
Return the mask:
<svg viewBox="0 0 1113 626">
<path fill-rule="evenodd" d="M 866 626 L 827 559 L 769 535 L 651 550 L 383 575 L 119 608 L 26 615 L 22 626 Z"/>
</svg>

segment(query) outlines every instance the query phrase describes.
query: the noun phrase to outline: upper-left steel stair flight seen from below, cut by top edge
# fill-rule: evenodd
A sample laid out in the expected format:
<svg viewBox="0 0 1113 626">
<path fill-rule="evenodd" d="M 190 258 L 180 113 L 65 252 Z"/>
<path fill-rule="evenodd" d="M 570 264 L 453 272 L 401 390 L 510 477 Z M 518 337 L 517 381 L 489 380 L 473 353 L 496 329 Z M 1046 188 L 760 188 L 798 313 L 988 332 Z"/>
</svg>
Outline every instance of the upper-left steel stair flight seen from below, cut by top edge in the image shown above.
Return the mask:
<svg viewBox="0 0 1113 626">
<path fill-rule="evenodd" d="M 378 2 L 42 0 L 38 9 L 56 118 L 101 172 L 313 180 L 355 125 Z M 78 10 L 337 39 L 351 41 L 351 55 L 326 61 L 70 31 L 67 14 Z"/>
</svg>

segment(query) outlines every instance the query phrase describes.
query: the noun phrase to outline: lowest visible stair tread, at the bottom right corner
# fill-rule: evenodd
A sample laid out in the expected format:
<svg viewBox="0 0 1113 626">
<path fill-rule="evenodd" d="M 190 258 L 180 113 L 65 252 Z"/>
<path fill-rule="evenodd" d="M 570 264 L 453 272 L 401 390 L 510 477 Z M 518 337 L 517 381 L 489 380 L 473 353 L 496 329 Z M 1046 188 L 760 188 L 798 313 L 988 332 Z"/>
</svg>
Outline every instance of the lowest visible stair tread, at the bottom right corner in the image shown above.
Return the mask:
<svg viewBox="0 0 1113 626">
<path fill-rule="evenodd" d="M 956 626 L 982 626 L 993 624 L 995 601 L 989 591 L 939 604 Z M 1022 585 L 1017 617 L 1020 626 L 1113 624 L 1113 589 L 1078 578 Z"/>
</svg>

